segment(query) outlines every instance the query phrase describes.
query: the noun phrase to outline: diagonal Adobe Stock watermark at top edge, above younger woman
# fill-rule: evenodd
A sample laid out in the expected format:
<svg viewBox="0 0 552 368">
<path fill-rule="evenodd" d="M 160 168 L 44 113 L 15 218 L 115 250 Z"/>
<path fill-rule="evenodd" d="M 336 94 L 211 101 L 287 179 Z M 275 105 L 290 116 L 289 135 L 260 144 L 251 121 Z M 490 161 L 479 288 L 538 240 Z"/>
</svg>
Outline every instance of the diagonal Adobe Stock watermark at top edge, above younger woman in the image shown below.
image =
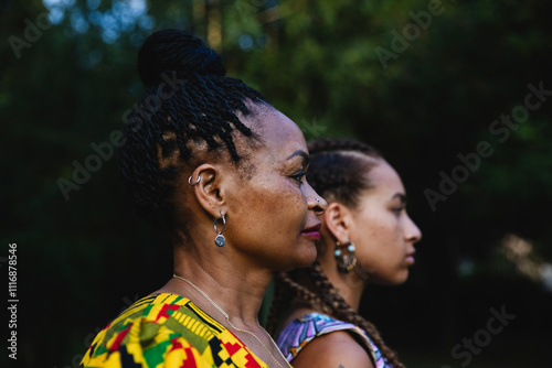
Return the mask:
<svg viewBox="0 0 552 368">
<path fill-rule="evenodd" d="M 452 0 L 454 1 L 454 0 Z M 378 59 L 384 71 L 388 69 L 389 61 L 399 58 L 399 54 L 404 53 L 411 46 L 411 43 L 416 41 L 422 31 L 427 31 L 427 29 L 433 23 L 433 18 L 440 15 L 445 12 L 445 7 L 440 0 L 429 0 L 427 2 L 427 10 L 421 10 L 417 13 L 411 11 L 408 17 L 412 22 L 403 26 L 403 32 L 400 34 L 396 30 L 391 31 L 390 48 L 378 46 L 374 48 Z"/>
</svg>

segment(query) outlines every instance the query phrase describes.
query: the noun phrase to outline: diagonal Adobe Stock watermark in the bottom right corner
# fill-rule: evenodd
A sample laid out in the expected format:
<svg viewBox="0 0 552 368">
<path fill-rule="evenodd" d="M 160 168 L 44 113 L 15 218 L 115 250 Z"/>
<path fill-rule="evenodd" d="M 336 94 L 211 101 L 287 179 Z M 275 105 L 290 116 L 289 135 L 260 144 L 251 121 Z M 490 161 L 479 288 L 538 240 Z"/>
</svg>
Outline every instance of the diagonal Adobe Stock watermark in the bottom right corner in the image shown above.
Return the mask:
<svg viewBox="0 0 552 368">
<path fill-rule="evenodd" d="M 500 307 L 500 312 L 491 307 L 489 310 L 491 317 L 487 320 L 487 324 L 485 328 L 478 329 L 474 333 L 471 338 L 463 338 L 461 344 L 456 344 L 450 349 L 450 356 L 460 360 L 460 367 L 466 367 L 474 359 L 474 355 L 479 355 L 482 351 L 482 348 L 487 347 L 491 340 L 493 335 L 500 334 L 506 326 L 512 322 L 517 315 L 509 314 L 506 312 L 505 305 Z M 445 365 L 440 366 L 440 368 L 453 368 L 452 366 Z"/>
</svg>

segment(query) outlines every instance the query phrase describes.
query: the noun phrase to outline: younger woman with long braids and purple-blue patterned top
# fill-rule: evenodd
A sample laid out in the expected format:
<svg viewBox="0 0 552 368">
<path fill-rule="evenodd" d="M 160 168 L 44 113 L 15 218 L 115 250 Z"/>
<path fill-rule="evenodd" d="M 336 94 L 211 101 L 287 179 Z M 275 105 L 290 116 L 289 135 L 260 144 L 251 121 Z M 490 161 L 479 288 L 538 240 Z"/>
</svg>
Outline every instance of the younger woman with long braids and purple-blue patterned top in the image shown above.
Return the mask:
<svg viewBox="0 0 552 368">
<path fill-rule="evenodd" d="M 285 295 L 293 303 L 277 343 L 294 367 L 403 367 L 358 312 L 369 283 L 400 284 L 414 263 L 422 234 L 406 214 L 401 177 L 354 140 L 317 140 L 309 150 L 308 180 L 329 203 L 318 260 L 291 277 L 278 273 L 269 329 Z"/>
</svg>

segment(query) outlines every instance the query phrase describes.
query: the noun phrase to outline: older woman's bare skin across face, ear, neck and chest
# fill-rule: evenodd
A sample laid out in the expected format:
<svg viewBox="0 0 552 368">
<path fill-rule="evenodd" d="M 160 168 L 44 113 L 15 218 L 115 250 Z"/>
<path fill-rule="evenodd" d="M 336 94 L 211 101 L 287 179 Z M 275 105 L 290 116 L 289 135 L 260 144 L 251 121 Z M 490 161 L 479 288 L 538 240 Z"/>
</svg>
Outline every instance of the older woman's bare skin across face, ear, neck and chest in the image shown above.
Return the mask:
<svg viewBox="0 0 552 368">
<path fill-rule="evenodd" d="M 310 264 L 317 256 L 312 227 L 327 207 L 308 185 L 308 149 L 299 128 L 272 107 L 248 104 L 251 115 L 238 116 L 258 140 L 234 134 L 240 167 L 224 152 L 195 167 L 198 186 L 183 178 L 189 207 L 189 246 L 174 247 L 174 273 L 190 280 L 217 307 L 179 278 L 156 293 L 185 297 L 232 331 L 255 355 L 274 367 L 285 366 L 268 334 L 258 323 L 258 311 L 274 271 Z M 320 198 L 316 202 L 316 198 Z M 214 245 L 213 217 L 224 213 L 224 247 Z M 222 223 L 219 220 L 219 229 Z M 318 232 L 316 232 L 318 234 Z M 220 309 L 224 311 L 221 313 Z M 227 317 L 225 316 L 227 315 Z M 246 329 L 257 338 L 231 326 Z M 264 346 L 262 346 L 264 345 Z"/>
</svg>

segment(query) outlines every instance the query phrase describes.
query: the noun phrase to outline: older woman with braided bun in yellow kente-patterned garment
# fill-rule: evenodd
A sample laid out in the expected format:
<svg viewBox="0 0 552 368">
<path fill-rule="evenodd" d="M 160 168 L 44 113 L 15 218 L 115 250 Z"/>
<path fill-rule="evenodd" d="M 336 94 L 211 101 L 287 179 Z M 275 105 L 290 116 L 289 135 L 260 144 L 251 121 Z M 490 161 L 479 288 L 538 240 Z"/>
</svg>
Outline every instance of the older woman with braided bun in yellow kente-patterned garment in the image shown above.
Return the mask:
<svg viewBox="0 0 552 368">
<path fill-rule="evenodd" d="M 138 55 L 146 115 L 121 147 L 126 193 L 173 239 L 174 274 L 99 333 L 86 367 L 287 367 L 257 321 L 274 271 L 310 264 L 326 208 L 299 128 L 179 30 Z"/>
</svg>

